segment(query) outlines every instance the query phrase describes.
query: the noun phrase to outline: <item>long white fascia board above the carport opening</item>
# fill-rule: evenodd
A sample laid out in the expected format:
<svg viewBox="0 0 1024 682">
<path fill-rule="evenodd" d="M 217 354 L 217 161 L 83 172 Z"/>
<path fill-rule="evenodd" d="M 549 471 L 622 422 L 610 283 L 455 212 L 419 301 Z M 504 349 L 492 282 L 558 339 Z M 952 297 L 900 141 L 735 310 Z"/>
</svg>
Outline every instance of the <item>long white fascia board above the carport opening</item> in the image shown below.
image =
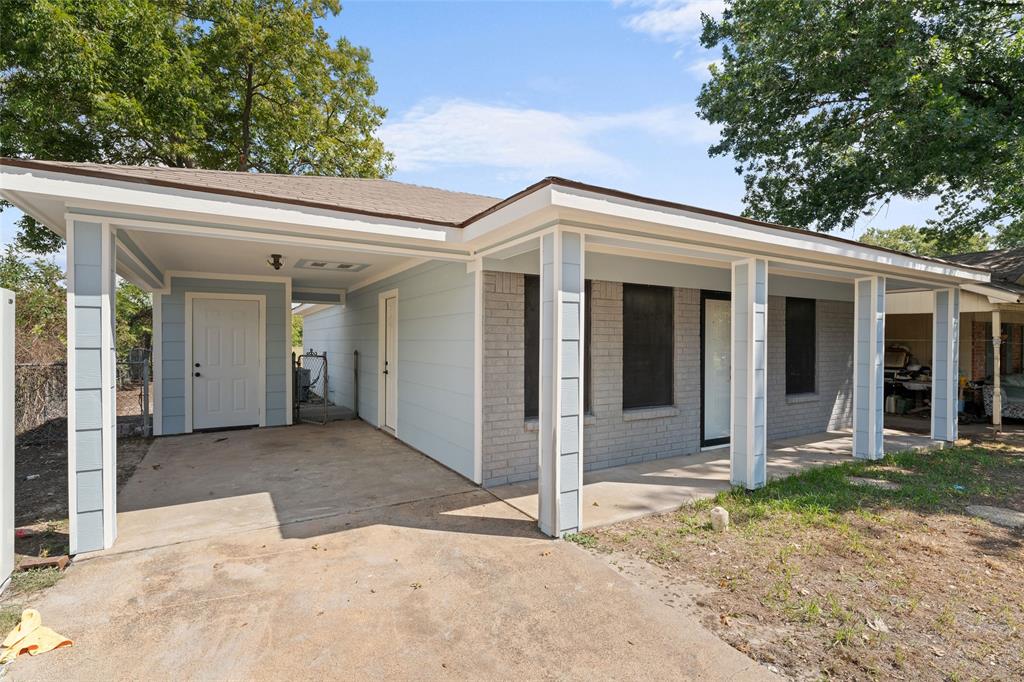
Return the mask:
<svg viewBox="0 0 1024 682">
<path fill-rule="evenodd" d="M 27 203 L 32 202 L 32 197 L 49 197 L 78 208 L 126 213 L 141 211 L 146 215 L 168 218 L 187 213 L 200 219 L 213 218 L 243 226 L 285 227 L 287 231 L 300 233 L 303 228 L 321 227 L 361 235 L 365 239 L 417 240 L 435 245 L 462 241 L 460 228 L 415 220 L 366 216 L 20 167 L 0 168 L 0 186 L 3 186 L 5 195 L 24 195 Z"/>
</svg>

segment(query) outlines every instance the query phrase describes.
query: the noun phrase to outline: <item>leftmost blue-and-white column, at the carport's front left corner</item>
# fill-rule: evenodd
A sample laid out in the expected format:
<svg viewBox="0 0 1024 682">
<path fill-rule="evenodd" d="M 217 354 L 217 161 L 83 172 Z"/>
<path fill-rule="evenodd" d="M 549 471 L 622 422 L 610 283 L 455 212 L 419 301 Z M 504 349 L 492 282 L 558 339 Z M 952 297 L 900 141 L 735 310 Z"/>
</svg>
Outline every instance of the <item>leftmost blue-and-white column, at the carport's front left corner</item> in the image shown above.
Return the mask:
<svg viewBox="0 0 1024 682">
<path fill-rule="evenodd" d="M 110 225 L 68 221 L 68 497 L 71 553 L 117 538 L 114 253 Z"/>
</svg>

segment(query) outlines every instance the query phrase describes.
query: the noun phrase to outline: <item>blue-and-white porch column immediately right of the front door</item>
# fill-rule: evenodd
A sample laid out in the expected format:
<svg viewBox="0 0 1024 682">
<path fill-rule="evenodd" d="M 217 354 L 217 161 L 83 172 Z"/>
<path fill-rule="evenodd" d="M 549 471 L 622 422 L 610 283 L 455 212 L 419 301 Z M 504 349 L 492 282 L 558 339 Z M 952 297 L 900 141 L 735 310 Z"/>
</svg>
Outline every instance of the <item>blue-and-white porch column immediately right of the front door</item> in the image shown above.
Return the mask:
<svg viewBox="0 0 1024 682">
<path fill-rule="evenodd" d="M 732 407 L 730 479 L 748 489 L 768 478 L 768 261 L 732 264 Z"/>
</svg>

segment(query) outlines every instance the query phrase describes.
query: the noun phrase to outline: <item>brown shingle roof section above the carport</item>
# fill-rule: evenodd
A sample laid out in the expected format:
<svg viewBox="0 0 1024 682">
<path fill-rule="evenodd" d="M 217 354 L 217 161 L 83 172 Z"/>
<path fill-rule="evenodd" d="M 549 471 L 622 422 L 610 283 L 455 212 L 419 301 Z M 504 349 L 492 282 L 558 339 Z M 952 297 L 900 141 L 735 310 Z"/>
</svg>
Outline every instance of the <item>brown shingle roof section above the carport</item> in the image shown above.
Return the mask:
<svg viewBox="0 0 1024 682">
<path fill-rule="evenodd" d="M 365 215 L 409 218 L 452 226 L 458 225 L 499 202 L 493 197 L 372 178 L 274 175 L 271 173 L 239 173 L 163 166 L 113 166 L 22 159 L 3 159 L 2 163 L 10 166 L 50 169 L 180 189 L 215 191 L 236 197 L 264 199 Z"/>
</svg>

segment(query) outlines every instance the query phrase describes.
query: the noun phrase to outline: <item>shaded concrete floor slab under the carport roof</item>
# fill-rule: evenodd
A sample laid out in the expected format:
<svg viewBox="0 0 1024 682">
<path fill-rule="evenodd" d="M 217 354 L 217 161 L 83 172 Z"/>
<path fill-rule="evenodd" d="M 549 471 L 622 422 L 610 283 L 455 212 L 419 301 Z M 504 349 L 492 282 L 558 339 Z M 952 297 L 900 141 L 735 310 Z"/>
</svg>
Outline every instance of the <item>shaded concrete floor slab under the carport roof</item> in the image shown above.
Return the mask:
<svg viewBox="0 0 1024 682">
<path fill-rule="evenodd" d="M 485 509 L 504 505 L 471 481 L 365 422 L 345 421 L 157 439 L 119 496 L 118 543 L 104 554 L 273 528 L 289 539 L 409 525 L 390 512 L 424 502 L 431 513 L 413 521 L 421 527 L 458 520 L 466 531 L 535 532 L 511 509 Z"/>
</svg>

